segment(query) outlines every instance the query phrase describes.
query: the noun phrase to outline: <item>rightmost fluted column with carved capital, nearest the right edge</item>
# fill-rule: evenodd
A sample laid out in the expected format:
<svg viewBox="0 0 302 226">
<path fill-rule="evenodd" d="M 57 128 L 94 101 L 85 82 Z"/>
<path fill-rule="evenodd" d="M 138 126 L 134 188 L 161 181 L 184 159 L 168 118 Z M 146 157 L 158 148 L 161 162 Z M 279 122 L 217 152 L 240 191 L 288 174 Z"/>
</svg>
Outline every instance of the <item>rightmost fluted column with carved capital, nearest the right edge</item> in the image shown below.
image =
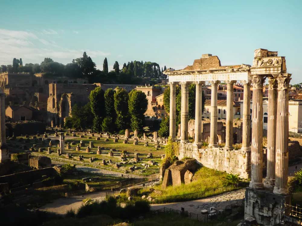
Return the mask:
<svg viewBox="0 0 302 226">
<path fill-rule="evenodd" d="M 291 74 L 277 76 L 276 180 L 273 193 L 288 194 L 288 93 Z"/>
</svg>

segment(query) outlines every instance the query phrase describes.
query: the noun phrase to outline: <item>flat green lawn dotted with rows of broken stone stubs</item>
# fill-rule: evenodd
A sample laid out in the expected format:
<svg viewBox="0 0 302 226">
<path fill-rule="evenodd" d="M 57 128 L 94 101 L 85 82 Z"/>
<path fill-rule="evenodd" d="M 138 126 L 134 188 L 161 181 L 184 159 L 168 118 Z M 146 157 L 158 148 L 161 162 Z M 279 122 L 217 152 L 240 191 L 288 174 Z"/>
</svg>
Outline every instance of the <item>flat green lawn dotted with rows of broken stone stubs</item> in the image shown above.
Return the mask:
<svg viewBox="0 0 302 226">
<path fill-rule="evenodd" d="M 28 150 L 34 144 L 34 140 L 31 139 L 32 137 L 33 136 L 30 136 L 29 142 L 28 141 L 25 142 L 26 139 L 24 137 L 17 137 L 16 140 L 8 140 L 8 143 L 14 145 L 10 149 L 10 151 L 13 152 L 13 153 L 24 152 L 24 150 L 21 150 L 19 147 L 16 146 L 16 145 L 21 145 L 21 144 L 25 144 L 27 146 L 27 150 Z M 137 167 L 140 167 L 140 169 L 135 170 L 133 173 L 154 174 L 154 173 L 159 172 L 159 167 L 158 166 L 151 166 L 150 165 L 150 167 L 148 169 L 144 169 L 144 167 L 142 166 L 142 163 L 147 163 L 150 160 L 153 160 L 157 163 L 160 163 L 160 161 L 161 161 L 160 155 L 165 153 L 164 147 L 161 147 L 159 150 L 156 150 L 154 148 L 154 144 L 151 144 L 151 143 L 149 144 L 148 147 L 145 147 L 143 142 L 138 143 L 138 145 L 133 145 L 132 141 L 129 141 L 128 144 L 123 144 L 123 140 L 118 140 L 117 143 L 114 143 L 113 139 L 109 139 L 109 141 L 106 142 L 105 141 L 106 138 L 104 138 L 104 137 L 100 138 L 100 140 L 95 140 L 95 137 L 92 137 L 92 139 L 88 139 L 88 137 L 90 137 L 90 136 L 84 136 L 83 138 L 75 137 L 75 139 L 71 139 L 71 137 L 65 137 L 65 139 L 66 139 L 65 140 L 65 152 L 72 154 L 73 157 L 74 157 L 73 159 L 69 159 L 69 160 L 79 161 L 79 159 L 77 157 L 79 155 L 83 155 L 84 160 L 81 161 L 82 164 L 85 164 L 85 163 L 89 164 L 90 163 L 89 159 L 93 157 L 95 159 L 95 161 L 93 162 L 93 164 L 95 164 L 94 167 L 96 167 L 96 165 L 99 165 L 99 163 L 103 159 L 105 159 L 106 161 L 111 159 L 111 161 L 113 163 L 112 165 L 104 165 L 104 166 L 100 165 L 98 167 L 99 168 L 107 168 L 109 170 L 125 172 L 126 170 L 129 171 L 130 166 L 131 167 L 132 166 L 137 166 Z M 18 140 L 19 138 L 24 138 L 24 140 L 19 141 Z M 59 139 L 59 137 L 56 140 L 58 140 L 58 139 Z M 81 147 L 81 151 L 78 152 L 78 151 L 75 150 L 75 148 L 80 143 L 80 140 L 84 141 L 85 147 Z M 95 147 L 91 148 L 90 153 L 86 153 L 85 150 L 86 150 L 87 146 L 89 146 L 90 141 L 93 142 Z M 76 142 L 76 144 L 72 145 L 70 150 L 66 149 L 67 143 L 71 143 L 71 142 Z M 48 157 L 55 158 L 57 160 L 62 160 L 62 161 L 68 162 L 65 155 L 58 156 L 56 154 L 56 151 L 58 149 L 57 144 L 51 146 L 51 149 L 52 149 L 53 153 L 48 154 L 47 148 L 49 147 L 49 145 L 48 145 L 47 141 L 45 141 L 44 144 L 41 144 L 41 141 L 36 140 L 36 143 L 37 143 L 37 149 L 38 148 L 44 148 L 43 152 L 39 152 L 37 154 L 45 155 L 45 156 L 48 156 Z M 102 150 L 101 155 L 96 154 L 98 146 L 105 148 L 105 150 Z M 116 149 L 116 151 L 113 152 L 113 157 L 110 157 L 108 155 L 109 149 Z M 119 169 L 117 169 L 116 166 L 115 166 L 115 163 L 119 163 L 119 162 L 122 161 L 120 159 L 121 151 L 127 151 L 128 161 L 133 159 L 134 153 L 139 153 L 139 157 L 140 157 L 141 161 L 138 162 L 138 163 L 135 163 L 134 165 L 133 164 L 123 164 L 123 165 L 121 165 L 121 167 Z M 150 152 L 153 154 L 153 158 L 152 159 L 147 159 L 146 156 Z"/>
</svg>

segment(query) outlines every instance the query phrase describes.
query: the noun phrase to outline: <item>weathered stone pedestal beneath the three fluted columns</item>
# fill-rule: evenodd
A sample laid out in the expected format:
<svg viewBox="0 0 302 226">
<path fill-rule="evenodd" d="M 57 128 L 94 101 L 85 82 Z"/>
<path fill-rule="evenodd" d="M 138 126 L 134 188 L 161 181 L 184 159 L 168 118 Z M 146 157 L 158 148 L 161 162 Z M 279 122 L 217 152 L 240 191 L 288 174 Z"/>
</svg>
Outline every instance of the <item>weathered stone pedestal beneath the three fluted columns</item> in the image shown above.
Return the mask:
<svg viewBox="0 0 302 226">
<path fill-rule="evenodd" d="M 284 203 L 291 203 L 291 195 L 277 195 L 265 190 L 247 187 L 244 218 L 255 218 L 258 224 L 277 225 L 285 214 L 290 212 Z"/>
</svg>

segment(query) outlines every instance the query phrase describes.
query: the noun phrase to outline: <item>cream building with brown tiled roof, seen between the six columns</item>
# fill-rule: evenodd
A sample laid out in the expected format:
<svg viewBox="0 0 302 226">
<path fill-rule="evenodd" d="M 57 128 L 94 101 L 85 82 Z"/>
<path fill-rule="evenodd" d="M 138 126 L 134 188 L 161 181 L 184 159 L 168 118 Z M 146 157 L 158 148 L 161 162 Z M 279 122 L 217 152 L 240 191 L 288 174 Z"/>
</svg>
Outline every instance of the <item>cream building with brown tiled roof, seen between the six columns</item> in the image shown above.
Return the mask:
<svg viewBox="0 0 302 226">
<path fill-rule="evenodd" d="M 211 118 L 211 100 L 204 103 L 202 118 Z M 233 101 L 233 118 L 240 118 L 240 102 Z M 226 100 L 217 100 L 217 119 L 226 119 Z"/>
</svg>

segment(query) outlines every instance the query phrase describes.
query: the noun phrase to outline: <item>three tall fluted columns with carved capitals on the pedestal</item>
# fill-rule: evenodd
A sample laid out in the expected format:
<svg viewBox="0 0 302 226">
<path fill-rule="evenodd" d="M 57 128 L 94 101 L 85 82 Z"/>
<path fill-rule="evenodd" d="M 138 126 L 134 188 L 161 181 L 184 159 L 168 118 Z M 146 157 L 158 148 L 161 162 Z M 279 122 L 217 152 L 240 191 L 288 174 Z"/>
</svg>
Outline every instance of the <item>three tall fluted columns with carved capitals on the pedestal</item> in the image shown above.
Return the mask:
<svg viewBox="0 0 302 226">
<path fill-rule="evenodd" d="M 265 77 L 253 75 L 251 181 L 249 187 L 273 188 L 275 194 L 288 194 L 288 100 L 291 74 L 268 78 L 268 150 L 267 176 L 262 182 L 263 150 L 263 82 Z M 278 130 L 277 130 L 278 125 Z"/>
</svg>

